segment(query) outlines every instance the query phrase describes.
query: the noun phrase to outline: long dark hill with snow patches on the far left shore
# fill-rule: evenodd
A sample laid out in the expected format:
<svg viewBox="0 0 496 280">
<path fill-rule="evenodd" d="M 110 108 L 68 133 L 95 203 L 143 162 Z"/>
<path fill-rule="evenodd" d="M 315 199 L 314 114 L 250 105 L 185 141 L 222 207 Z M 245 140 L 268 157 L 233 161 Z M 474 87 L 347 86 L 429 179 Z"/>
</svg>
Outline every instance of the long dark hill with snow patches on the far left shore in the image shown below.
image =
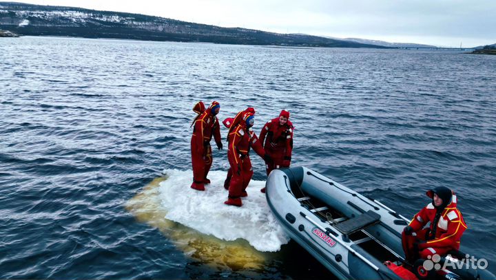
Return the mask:
<svg viewBox="0 0 496 280">
<path fill-rule="evenodd" d="M 221 28 L 162 17 L 0 2 L 0 28 L 19 35 L 209 42 L 262 46 L 384 48 L 304 34 Z"/>
</svg>

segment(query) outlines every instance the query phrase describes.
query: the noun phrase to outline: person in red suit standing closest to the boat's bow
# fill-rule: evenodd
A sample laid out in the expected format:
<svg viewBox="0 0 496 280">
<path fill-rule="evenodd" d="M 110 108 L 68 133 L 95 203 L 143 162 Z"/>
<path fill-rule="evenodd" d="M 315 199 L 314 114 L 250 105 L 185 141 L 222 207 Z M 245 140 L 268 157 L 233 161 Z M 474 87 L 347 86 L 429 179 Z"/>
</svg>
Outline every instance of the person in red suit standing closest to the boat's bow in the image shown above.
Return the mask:
<svg viewBox="0 0 496 280">
<path fill-rule="evenodd" d="M 293 123 L 289 121 L 289 112 L 282 110 L 279 117 L 265 123 L 260 131 L 260 141 L 264 150 L 272 159 L 265 165 L 267 176 L 276 168 L 289 167 L 293 151 Z M 265 138 L 267 135 L 267 138 Z M 265 193 L 265 188 L 260 192 Z"/>
</svg>

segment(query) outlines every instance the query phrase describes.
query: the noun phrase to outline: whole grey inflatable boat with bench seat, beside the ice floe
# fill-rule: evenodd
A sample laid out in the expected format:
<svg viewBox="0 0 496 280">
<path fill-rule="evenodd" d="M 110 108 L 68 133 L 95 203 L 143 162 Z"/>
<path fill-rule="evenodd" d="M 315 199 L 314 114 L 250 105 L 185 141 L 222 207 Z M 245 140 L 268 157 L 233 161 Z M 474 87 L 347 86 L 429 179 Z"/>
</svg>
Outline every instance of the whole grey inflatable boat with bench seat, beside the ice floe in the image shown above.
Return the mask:
<svg viewBox="0 0 496 280">
<path fill-rule="evenodd" d="M 409 219 L 308 168 L 273 170 L 266 195 L 291 239 L 339 279 L 495 279 L 488 270 L 406 263 L 401 233 Z M 438 262 L 464 257 L 454 251 Z"/>
</svg>

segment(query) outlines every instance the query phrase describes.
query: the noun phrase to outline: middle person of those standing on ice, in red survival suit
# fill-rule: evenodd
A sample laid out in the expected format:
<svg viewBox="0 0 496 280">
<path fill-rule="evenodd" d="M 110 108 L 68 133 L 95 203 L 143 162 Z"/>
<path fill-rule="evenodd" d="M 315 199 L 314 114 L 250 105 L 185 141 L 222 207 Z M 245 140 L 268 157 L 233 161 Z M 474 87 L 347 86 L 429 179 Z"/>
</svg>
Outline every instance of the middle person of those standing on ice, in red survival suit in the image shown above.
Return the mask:
<svg viewBox="0 0 496 280">
<path fill-rule="evenodd" d="M 270 157 L 265 154 L 256 134 L 251 130 L 254 120 L 254 114 L 246 112 L 243 114 L 242 121 L 229 134 L 227 159 L 233 176 L 229 183 L 229 197 L 224 202 L 227 205 L 242 206 L 241 197 L 248 196 L 246 188 L 253 175 L 249 158 L 250 148 L 254 148 L 255 152 L 265 161 L 271 161 Z"/>
</svg>

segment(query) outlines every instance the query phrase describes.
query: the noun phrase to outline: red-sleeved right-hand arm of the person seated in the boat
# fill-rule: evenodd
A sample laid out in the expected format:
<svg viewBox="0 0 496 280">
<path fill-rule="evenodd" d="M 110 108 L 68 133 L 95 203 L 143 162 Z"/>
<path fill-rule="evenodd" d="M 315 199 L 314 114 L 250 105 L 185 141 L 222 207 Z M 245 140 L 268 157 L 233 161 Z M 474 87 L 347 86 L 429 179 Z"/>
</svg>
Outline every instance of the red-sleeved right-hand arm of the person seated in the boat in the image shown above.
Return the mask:
<svg viewBox="0 0 496 280">
<path fill-rule="evenodd" d="M 457 209 L 451 210 L 446 214 L 444 219 L 448 220 L 448 230 L 441 234 L 439 238 L 420 243 L 419 249 L 429 247 L 455 247 L 457 241 L 462 238 L 462 234 L 466 230 L 465 223 L 462 221 L 462 214 Z M 437 226 L 437 225 L 435 225 Z"/>
</svg>

